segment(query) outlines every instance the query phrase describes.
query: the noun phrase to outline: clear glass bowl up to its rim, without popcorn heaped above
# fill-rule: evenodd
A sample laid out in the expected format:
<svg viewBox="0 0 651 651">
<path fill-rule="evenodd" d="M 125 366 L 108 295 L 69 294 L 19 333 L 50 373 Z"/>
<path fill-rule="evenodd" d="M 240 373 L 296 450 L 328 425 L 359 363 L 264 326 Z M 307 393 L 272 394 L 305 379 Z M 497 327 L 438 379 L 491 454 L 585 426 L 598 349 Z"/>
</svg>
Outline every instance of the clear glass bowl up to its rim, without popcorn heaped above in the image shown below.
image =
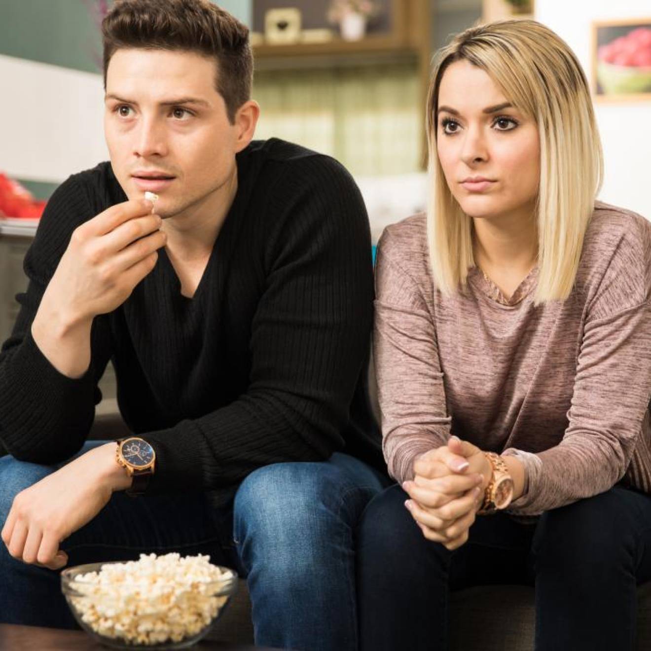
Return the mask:
<svg viewBox="0 0 651 651">
<path fill-rule="evenodd" d="M 205 637 L 237 589 L 230 568 L 217 581 L 192 585 L 148 581 L 96 584 L 80 581 L 89 572 L 122 561 L 89 563 L 61 572 L 61 590 L 77 623 L 113 648 L 180 649 Z"/>
</svg>

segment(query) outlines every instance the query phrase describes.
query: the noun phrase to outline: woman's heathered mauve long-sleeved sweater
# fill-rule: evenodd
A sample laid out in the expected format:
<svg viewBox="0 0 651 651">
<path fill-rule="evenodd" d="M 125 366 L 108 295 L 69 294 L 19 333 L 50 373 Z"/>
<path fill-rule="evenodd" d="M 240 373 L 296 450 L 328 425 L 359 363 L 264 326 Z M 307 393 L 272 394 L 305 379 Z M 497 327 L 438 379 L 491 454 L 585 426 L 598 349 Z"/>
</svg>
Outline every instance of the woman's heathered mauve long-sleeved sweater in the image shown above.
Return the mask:
<svg viewBox="0 0 651 651">
<path fill-rule="evenodd" d="M 505 297 L 481 270 L 443 295 L 426 220 L 378 246 L 374 359 L 389 472 L 450 434 L 516 455 L 534 516 L 616 482 L 651 492 L 651 223 L 597 202 L 574 288 L 534 304 L 538 268 Z"/>
</svg>

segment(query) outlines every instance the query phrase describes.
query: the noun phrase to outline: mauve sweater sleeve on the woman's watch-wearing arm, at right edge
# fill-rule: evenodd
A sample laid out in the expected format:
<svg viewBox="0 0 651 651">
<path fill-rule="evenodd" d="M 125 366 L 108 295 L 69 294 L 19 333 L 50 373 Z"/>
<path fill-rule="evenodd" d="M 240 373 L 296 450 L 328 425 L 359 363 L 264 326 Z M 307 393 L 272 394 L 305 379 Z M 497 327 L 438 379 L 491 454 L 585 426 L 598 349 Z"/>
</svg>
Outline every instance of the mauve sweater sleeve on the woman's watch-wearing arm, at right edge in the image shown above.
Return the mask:
<svg viewBox="0 0 651 651">
<path fill-rule="evenodd" d="M 612 488 L 624 477 L 651 399 L 651 229 L 629 232 L 587 305 L 568 427 L 525 465 L 527 492 L 510 506 L 533 516 Z"/>
</svg>

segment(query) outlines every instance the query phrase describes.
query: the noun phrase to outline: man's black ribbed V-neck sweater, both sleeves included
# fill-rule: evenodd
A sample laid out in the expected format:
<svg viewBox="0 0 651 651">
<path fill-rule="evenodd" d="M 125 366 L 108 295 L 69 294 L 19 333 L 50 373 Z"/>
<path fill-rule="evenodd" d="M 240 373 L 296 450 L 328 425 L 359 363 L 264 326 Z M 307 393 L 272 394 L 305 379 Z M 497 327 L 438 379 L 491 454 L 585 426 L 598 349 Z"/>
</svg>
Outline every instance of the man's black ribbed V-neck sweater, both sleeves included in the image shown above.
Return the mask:
<svg viewBox="0 0 651 651">
<path fill-rule="evenodd" d="M 126 195 L 108 162 L 55 191 L 0 355 L 10 454 L 52 464 L 77 452 L 110 360 L 120 413 L 156 452 L 148 493 L 227 499 L 262 465 L 336 450 L 383 467 L 366 382 L 373 281 L 359 189 L 334 159 L 277 139 L 236 162 L 238 190 L 193 298 L 161 249 L 131 296 L 94 318 L 78 379 L 51 366 L 31 323 L 74 229 Z"/>
</svg>

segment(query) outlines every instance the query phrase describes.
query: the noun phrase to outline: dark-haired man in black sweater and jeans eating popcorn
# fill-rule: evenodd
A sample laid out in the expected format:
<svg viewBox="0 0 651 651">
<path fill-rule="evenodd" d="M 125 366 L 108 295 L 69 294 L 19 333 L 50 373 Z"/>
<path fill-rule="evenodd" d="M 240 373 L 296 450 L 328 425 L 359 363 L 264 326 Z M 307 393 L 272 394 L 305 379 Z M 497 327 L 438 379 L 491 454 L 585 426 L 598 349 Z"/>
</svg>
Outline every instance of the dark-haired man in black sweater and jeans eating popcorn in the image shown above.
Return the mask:
<svg viewBox="0 0 651 651">
<path fill-rule="evenodd" d="M 210 553 L 248 575 L 256 643 L 355 648 L 383 483 L 359 191 L 252 141 L 247 29 L 208 0 L 123 0 L 103 31 L 111 162 L 49 201 L 0 356 L 0 620 L 74 626 L 66 564 Z M 135 440 L 85 443 L 109 360 Z"/>
</svg>

